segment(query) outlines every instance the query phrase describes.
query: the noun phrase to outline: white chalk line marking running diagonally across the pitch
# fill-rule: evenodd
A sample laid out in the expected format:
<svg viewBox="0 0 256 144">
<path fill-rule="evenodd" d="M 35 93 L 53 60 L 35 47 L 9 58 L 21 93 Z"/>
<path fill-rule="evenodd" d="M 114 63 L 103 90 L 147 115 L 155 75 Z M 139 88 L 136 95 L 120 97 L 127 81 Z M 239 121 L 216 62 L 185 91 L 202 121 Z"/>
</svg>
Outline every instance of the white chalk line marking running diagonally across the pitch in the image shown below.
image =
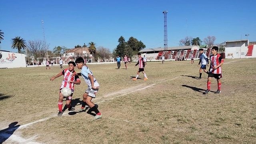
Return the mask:
<svg viewBox="0 0 256 144">
<path fill-rule="evenodd" d="M 231 62 L 236 62 L 236 61 L 238 61 L 238 60 L 234 60 L 234 61 L 231 61 Z M 230 63 L 230 62 L 227 62 L 227 63 L 225 63 L 225 64 L 228 64 L 228 63 Z M 151 84 L 151 85 L 149 85 L 149 86 L 145 86 L 145 87 L 143 87 L 143 88 L 139 88 L 139 89 L 136 89 L 136 90 L 133 90 L 133 91 L 131 91 L 131 92 L 124 93 L 124 94 L 120 94 L 120 95 L 115 96 L 115 97 L 113 97 L 113 98 L 111 98 L 111 99 L 118 98 L 118 97 L 120 97 L 120 96 L 124 96 L 124 95 L 126 95 L 126 94 L 130 94 L 130 93 L 133 93 L 133 92 L 136 92 L 136 91 L 139 91 L 139 90 L 144 90 L 144 89 L 146 89 L 146 88 L 149 88 L 149 87 L 151 87 L 151 86 L 154 86 L 154 85 L 159 84 L 159 83 L 162 83 L 162 82 L 168 82 L 168 81 L 170 81 L 170 80 L 175 80 L 176 78 L 179 78 L 179 77 L 180 77 L 180 76 L 177 76 L 177 77 L 172 78 L 172 79 L 169 79 L 169 80 L 161 80 L 160 82 L 156 82 L 155 84 Z M 110 94 L 110 95 L 111 95 L 111 94 Z M 109 95 L 109 96 L 110 96 L 110 95 Z M 101 102 L 105 102 L 105 100 L 102 100 L 102 101 L 97 102 L 97 103 L 101 103 Z M 64 114 L 67 114 L 67 113 L 64 112 L 63 115 L 64 115 Z M 42 119 L 40 119 L 40 120 L 37 120 L 37 121 L 34 121 L 34 122 L 30 122 L 30 123 L 28 123 L 28 124 L 21 125 L 18 129 L 26 128 L 26 127 L 28 127 L 28 126 L 30 126 L 30 125 L 32 125 L 32 124 L 35 124 L 35 123 L 38 123 L 38 122 L 43 122 L 43 121 L 48 120 L 48 119 L 53 118 L 53 117 L 56 117 L 56 116 L 51 116 L 51 117 L 48 117 L 48 118 L 42 118 Z M 129 121 L 124 120 L 124 122 L 129 122 Z M 18 129 L 17 129 L 17 130 L 18 130 Z M 6 138 L 6 136 L 8 136 L 8 134 L 6 134 L 6 133 L 4 132 L 4 133 L 0 134 L 0 136 L 3 136 L 4 138 Z M 12 141 L 15 141 L 15 142 L 26 142 L 26 144 L 42 144 L 42 143 L 38 143 L 38 142 L 31 142 L 31 140 L 35 139 L 36 137 L 37 137 L 37 136 L 33 136 L 33 137 L 29 138 L 29 139 L 24 139 L 24 138 L 22 138 L 22 137 L 20 137 L 20 136 L 17 136 L 17 135 L 15 135 L 15 134 L 12 134 L 7 140 L 12 140 Z M 6 140 L 6 141 L 7 141 L 7 140 Z"/>
</svg>

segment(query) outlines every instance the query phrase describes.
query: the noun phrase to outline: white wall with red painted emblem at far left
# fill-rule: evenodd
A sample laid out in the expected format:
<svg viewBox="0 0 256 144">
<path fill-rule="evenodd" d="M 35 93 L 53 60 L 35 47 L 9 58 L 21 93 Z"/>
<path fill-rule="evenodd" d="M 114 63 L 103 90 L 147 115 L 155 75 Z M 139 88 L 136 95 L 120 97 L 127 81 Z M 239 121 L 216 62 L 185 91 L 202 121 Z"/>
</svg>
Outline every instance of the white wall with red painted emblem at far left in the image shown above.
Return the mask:
<svg viewBox="0 0 256 144">
<path fill-rule="evenodd" d="M 26 67 L 25 54 L 0 51 L 0 68 Z"/>
</svg>

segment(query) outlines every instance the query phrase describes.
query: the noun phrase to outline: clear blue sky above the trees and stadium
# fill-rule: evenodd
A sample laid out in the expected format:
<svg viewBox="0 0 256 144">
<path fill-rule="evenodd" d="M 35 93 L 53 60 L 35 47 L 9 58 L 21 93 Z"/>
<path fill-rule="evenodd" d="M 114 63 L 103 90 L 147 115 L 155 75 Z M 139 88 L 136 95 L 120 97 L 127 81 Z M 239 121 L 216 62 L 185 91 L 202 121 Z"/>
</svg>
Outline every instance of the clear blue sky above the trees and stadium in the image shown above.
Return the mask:
<svg viewBox="0 0 256 144">
<path fill-rule="evenodd" d="M 255 0 L 2 0 L 1 50 L 11 48 L 16 36 L 74 48 L 96 43 L 112 50 L 118 38 L 131 36 L 146 48 L 164 47 L 164 10 L 167 14 L 168 47 L 179 46 L 186 36 L 215 36 L 215 43 L 246 39 L 256 41 Z M 42 24 L 42 20 L 44 24 Z"/>
</svg>

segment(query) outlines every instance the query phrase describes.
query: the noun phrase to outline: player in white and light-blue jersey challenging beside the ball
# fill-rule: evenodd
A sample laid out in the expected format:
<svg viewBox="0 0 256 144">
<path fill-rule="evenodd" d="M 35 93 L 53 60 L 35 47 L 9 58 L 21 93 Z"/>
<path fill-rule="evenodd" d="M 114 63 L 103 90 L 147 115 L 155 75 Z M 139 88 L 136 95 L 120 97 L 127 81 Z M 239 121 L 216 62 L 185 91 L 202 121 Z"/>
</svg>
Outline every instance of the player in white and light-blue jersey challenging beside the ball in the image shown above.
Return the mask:
<svg viewBox="0 0 256 144">
<path fill-rule="evenodd" d="M 92 111 L 96 113 L 96 116 L 94 116 L 94 119 L 98 119 L 102 117 L 102 114 L 97 108 L 97 105 L 95 105 L 92 102 L 92 98 L 95 98 L 96 93 L 99 90 L 100 84 L 97 82 L 97 80 L 92 75 L 92 72 L 90 69 L 84 65 L 84 59 L 82 57 L 79 57 L 76 59 L 76 65 L 78 69 L 81 69 L 81 73 L 78 73 L 78 76 L 82 76 L 88 85 L 88 89 L 83 94 L 83 102 L 81 109 L 85 108 L 85 105 L 88 105 Z"/>
</svg>

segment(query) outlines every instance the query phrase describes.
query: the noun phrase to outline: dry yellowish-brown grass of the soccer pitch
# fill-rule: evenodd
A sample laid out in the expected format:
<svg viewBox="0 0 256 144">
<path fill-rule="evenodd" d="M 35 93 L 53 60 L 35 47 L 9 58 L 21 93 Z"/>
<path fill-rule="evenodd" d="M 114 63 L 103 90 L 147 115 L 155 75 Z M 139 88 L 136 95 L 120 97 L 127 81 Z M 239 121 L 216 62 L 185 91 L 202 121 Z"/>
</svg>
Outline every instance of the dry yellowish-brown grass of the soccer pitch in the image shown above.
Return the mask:
<svg viewBox="0 0 256 144">
<path fill-rule="evenodd" d="M 198 61 L 148 62 L 137 81 L 138 66 L 88 65 L 100 83 L 93 102 L 103 118 L 86 112 L 58 113 L 58 66 L 0 69 L 0 130 L 12 122 L 14 134 L 44 144 L 253 144 L 256 143 L 256 59 L 225 60 L 222 93 L 206 90 Z M 121 64 L 124 68 L 124 64 Z M 80 72 L 77 68 L 77 72 Z M 82 77 L 80 77 L 82 79 Z M 80 108 L 87 86 L 75 86 L 72 104 Z M 65 102 L 64 102 L 65 104 Z M 47 118 L 47 120 L 42 120 Z M 42 120 L 28 126 L 31 122 Z M 15 143 L 8 139 L 3 144 Z M 26 143 L 26 142 L 25 142 Z M 16 144 L 16 143 L 15 143 Z"/>
</svg>

